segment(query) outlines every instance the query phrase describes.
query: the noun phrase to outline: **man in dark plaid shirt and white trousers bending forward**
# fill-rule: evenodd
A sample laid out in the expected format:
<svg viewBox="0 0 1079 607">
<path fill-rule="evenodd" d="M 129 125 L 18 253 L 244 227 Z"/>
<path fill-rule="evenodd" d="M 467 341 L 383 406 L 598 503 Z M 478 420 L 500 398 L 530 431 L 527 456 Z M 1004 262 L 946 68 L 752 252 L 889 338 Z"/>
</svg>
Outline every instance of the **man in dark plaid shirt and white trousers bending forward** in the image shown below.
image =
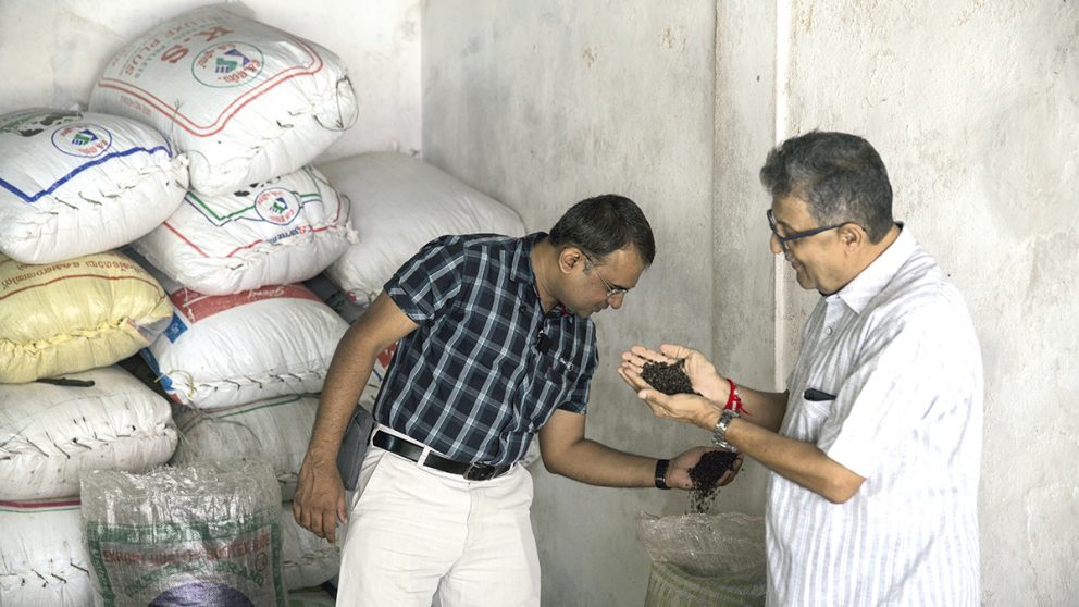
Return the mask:
<svg viewBox="0 0 1079 607">
<path fill-rule="evenodd" d="M 692 488 L 703 447 L 657 460 L 584 437 L 590 317 L 620 308 L 654 257 L 641 209 L 605 195 L 550 234 L 437 238 L 386 283 L 334 355 L 294 500 L 297 521 L 331 542 L 349 521 L 343 604 L 538 605 L 532 476 L 517 464 L 535 435 L 553 473 Z M 398 340 L 346 507 L 342 437 L 375 357 Z"/>
</svg>

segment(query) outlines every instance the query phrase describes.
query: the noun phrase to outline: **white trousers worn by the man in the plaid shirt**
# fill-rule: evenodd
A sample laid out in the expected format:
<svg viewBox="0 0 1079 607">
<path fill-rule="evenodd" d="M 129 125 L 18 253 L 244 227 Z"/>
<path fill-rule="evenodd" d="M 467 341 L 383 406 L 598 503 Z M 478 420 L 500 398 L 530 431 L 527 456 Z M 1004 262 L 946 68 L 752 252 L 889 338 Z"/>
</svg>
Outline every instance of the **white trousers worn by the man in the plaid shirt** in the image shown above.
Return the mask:
<svg viewBox="0 0 1079 607">
<path fill-rule="evenodd" d="M 466 481 L 371 446 L 342 546 L 337 605 L 540 605 L 532 475 Z"/>
</svg>

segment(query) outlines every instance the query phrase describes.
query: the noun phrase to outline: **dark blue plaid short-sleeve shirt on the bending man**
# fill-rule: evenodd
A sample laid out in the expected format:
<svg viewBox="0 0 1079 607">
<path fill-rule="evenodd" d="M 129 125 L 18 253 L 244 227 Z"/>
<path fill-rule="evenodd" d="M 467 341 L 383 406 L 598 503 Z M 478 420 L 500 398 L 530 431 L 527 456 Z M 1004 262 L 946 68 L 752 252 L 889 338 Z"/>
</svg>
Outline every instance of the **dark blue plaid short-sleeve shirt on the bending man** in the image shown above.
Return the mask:
<svg viewBox="0 0 1079 607">
<path fill-rule="evenodd" d="M 443 236 L 386 283 L 419 327 L 382 385 L 379 423 L 467 462 L 511 463 L 555 409 L 583 413 L 595 324 L 544 313 L 532 246 L 545 236 Z"/>
</svg>

